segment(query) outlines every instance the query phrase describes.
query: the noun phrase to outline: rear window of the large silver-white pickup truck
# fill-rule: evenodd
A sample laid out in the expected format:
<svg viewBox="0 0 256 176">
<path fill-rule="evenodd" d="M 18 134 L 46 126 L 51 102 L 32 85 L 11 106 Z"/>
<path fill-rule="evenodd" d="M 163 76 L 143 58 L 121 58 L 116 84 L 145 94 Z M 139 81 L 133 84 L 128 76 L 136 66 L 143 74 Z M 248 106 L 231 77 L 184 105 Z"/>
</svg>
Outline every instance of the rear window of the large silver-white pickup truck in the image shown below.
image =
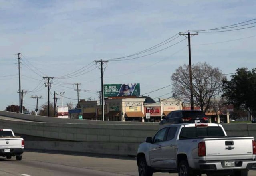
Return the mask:
<svg viewBox="0 0 256 176">
<path fill-rule="evenodd" d="M 194 138 L 203 136 L 225 136 L 221 127 L 184 127 L 179 138 Z"/>
</svg>

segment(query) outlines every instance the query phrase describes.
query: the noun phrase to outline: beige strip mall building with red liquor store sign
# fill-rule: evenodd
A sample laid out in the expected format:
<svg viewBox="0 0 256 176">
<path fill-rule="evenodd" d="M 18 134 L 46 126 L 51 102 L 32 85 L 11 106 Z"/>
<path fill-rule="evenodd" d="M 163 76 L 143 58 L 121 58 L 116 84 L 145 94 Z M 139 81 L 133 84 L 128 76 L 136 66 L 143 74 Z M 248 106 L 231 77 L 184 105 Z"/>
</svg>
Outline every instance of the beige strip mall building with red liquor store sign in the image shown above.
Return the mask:
<svg viewBox="0 0 256 176">
<path fill-rule="evenodd" d="M 81 103 L 83 119 L 103 120 L 102 107 L 97 101 Z M 183 109 L 177 99 L 159 99 L 155 103 L 150 97 L 111 97 L 105 99 L 105 121 L 159 122 L 162 117 L 174 110 Z"/>
</svg>

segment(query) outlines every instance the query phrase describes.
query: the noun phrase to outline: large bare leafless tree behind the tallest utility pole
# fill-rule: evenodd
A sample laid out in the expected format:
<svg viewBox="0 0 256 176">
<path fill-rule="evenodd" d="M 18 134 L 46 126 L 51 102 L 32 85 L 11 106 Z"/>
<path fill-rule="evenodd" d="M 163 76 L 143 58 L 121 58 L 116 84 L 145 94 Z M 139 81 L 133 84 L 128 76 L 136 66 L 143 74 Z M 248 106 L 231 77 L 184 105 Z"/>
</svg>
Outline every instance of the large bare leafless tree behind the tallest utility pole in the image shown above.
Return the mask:
<svg viewBox="0 0 256 176">
<path fill-rule="evenodd" d="M 206 62 L 192 65 L 193 101 L 197 107 L 204 112 L 210 106 L 212 97 L 219 95 L 222 80 L 226 76 L 222 71 L 208 65 Z M 190 103 L 190 81 L 189 65 L 184 64 L 176 69 L 176 73 L 171 75 L 173 81 L 173 92 L 177 99 Z"/>
</svg>

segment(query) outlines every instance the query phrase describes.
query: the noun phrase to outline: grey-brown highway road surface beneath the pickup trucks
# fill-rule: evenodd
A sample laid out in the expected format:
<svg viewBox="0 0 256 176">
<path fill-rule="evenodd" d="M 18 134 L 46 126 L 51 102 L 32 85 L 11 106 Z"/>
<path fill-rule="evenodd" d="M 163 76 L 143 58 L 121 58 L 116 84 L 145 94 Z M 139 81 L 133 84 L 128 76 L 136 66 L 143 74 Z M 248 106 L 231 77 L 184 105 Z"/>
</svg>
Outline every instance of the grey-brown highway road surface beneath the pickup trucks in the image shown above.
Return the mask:
<svg viewBox="0 0 256 176">
<path fill-rule="evenodd" d="M 135 158 L 25 151 L 21 161 L 0 157 L 0 176 L 138 176 Z M 154 173 L 153 176 L 178 176 Z M 202 176 L 206 176 L 203 174 Z M 256 176 L 249 171 L 248 176 Z"/>
</svg>

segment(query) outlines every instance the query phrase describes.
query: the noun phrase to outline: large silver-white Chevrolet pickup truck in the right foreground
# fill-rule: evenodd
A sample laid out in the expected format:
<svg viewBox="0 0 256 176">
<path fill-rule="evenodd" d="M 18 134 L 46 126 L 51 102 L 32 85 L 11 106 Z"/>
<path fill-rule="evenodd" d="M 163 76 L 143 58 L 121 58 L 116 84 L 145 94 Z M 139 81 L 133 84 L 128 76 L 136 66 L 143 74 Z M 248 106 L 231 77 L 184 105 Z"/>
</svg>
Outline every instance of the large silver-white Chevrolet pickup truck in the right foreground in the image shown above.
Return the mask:
<svg viewBox="0 0 256 176">
<path fill-rule="evenodd" d="M 164 126 L 139 145 L 139 176 L 247 176 L 248 170 L 256 169 L 252 136 L 227 136 L 222 125 L 214 123 Z"/>
</svg>

